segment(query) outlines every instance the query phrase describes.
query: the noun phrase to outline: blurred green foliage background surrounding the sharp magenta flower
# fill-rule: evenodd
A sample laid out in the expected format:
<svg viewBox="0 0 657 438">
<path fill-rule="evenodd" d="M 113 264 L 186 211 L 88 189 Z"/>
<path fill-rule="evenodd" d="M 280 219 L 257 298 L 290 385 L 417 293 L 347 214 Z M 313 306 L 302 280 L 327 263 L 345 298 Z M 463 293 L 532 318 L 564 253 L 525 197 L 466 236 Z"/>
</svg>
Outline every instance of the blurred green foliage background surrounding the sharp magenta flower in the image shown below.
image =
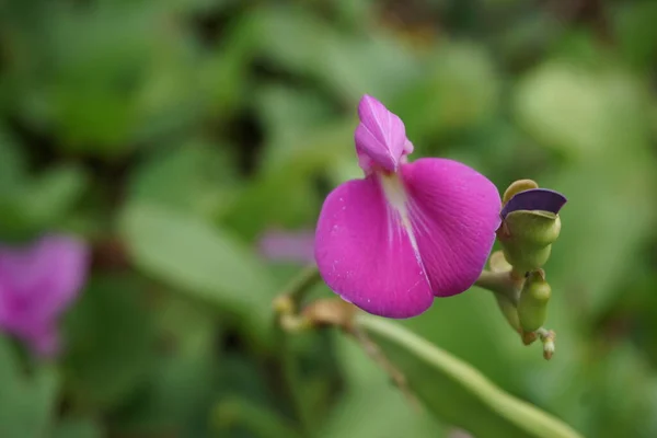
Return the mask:
<svg viewBox="0 0 657 438">
<path fill-rule="evenodd" d="M 364 93 L 414 157 L 569 199 L 551 361 L 480 289 L 403 324 L 587 437 L 657 436 L 655 23 L 647 0 L 0 0 L 0 239 L 94 251 L 55 362 L 0 344 L 3 437 L 283 438 L 288 356 L 314 437 L 453 436 L 339 333 L 263 336 L 303 264 L 261 239 L 360 175 Z"/>
</svg>

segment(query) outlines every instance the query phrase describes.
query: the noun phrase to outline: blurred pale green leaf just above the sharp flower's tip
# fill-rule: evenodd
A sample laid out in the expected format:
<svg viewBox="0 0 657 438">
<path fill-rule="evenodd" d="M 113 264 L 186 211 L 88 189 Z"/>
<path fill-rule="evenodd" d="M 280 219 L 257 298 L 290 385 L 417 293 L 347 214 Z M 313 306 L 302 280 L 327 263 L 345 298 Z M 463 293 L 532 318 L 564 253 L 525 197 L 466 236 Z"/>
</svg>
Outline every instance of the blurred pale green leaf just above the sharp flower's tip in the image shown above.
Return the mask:
<svg viewBox="0 0 657 438">
<path fill-rule="evenodd" d="M 392 35 L 338 32 L 310 9 L 262 8 L 253 20 L 265 56 L 309 74 L 354 104 L 365 93 L 387 101 L 420 73 L 419 62 Z"/>
</svg>

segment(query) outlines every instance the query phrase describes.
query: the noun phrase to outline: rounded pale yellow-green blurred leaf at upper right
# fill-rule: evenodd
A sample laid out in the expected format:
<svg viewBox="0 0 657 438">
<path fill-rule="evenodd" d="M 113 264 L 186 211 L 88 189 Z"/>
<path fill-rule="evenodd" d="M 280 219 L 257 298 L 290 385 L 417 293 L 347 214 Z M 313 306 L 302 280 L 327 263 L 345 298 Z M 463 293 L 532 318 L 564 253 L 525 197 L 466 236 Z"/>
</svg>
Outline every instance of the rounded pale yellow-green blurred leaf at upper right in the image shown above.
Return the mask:
<svg viewBox="0 0 657 438">
<path fill-rule="evenodd" d="M 516 116 L 539 143 L 580 160 L 641 149 L 647 108 L 642 87 L 626 72 L 569 60 L 535 69 L 515 95 Z"/>
</svg>

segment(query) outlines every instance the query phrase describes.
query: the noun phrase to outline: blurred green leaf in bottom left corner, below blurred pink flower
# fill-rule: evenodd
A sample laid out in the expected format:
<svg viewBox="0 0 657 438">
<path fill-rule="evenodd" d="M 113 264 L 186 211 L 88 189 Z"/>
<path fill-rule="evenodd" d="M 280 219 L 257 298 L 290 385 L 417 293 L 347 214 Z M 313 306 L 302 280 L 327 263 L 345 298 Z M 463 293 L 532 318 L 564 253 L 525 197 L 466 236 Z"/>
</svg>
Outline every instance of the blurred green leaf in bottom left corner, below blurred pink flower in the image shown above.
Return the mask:
<svg viewBox="0 0 657 438">
<path fill-rule="evenodd" d="M 45 436 L 57 396 L 56 370 L 38 365 L 25 373 L 8 339 L 0 337 L 0 436 Z"/>
</svg>

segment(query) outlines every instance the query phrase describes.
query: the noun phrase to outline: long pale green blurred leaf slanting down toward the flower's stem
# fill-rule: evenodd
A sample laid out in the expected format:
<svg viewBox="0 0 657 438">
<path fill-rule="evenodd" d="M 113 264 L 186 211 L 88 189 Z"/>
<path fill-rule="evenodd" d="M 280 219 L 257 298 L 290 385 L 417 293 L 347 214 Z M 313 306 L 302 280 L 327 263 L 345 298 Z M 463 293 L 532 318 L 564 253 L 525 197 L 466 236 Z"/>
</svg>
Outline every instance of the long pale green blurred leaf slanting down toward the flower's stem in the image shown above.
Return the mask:
<svg viewBox="0 0 657 438">
<path fill-rule="evenodd" d="M 196 217 L 145 203 L 125 208 L 120 231 L 141 269 L 238 316 L 261 339 L 268 337 L 273 283 L 230 235 Z"/>
</svg>

